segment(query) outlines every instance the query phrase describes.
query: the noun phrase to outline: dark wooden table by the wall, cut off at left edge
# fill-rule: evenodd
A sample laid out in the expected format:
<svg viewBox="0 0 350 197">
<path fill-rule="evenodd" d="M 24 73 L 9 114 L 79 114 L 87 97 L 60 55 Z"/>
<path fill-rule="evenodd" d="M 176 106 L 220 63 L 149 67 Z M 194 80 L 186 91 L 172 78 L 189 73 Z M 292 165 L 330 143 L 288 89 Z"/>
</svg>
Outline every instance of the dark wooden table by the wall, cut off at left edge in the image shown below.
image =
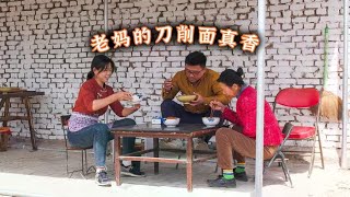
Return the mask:
<svg viewBox="0 0 350 197">
<path fill-rule="evenodd" d="M 36 146 L 36 137 L 35 137 L 35 130 L 33 127 L 32 121 L 32 113 L 31 113 L 31 102 L 30 99 L 37 95 L 44 95 L 44 92 L 36 92 L 36 91 L 19 91 L 19 92 L 0 92 L 0 111 L 2 109 L 4 105 L 3 115 L 0 117 L 0 121 L 2 121 L 2 126 L 7 127 L 8 121 L 22 119 L 27 120 L 30 125 L 30 131 L 31 131 L 31 141 L 33 150 L 37 150 Z M 22 103 L 25 105 L 26 109 L 26 116 L 10 116 L 9 109 L 10 109 L 10 99 L 11 97 L 21 97 Z"/>
</svg>

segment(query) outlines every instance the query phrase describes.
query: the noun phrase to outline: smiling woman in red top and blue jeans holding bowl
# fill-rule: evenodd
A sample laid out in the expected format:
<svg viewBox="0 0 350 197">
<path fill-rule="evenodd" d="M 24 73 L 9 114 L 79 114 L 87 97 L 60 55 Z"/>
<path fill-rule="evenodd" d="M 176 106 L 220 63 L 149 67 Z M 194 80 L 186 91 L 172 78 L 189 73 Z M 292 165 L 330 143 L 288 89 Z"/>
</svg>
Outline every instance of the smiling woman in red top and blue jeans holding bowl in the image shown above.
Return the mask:
<svg viewBox="0 0 350 197">
<path fill-rule="evenodd" d="M 73 147 L 93 147 L 96 183 L 102 186 L 110 186 L 106 173 L 106 149 L 109 140 L 114 137 L 110 134 L 112 127 L 135 125 L 135 120 L 124 118 L 112 124 L 98 121 L 98 117 L 106 113 L 108 106 L 119 117 L 126 117 L 140 108 L 122 107 L 120 101 L 130 101 L 132 96 L 129 92 L 114 92 L 107 81 L 114 73 L 114 62 L 104 55 L 95 56 L 88 73 L 88 80 L 81 85 L 73 112 L 69 119 L 68 140 Z M 122 138 L 122 153 L 133 152 L 135 138 Z M 125 166 L 125 165 L 124 165 Z M 132 162 L 132 165 L 125 166 L 122 174 L 130 176 L 142 176 L 140 162 Z"/>
</svg>

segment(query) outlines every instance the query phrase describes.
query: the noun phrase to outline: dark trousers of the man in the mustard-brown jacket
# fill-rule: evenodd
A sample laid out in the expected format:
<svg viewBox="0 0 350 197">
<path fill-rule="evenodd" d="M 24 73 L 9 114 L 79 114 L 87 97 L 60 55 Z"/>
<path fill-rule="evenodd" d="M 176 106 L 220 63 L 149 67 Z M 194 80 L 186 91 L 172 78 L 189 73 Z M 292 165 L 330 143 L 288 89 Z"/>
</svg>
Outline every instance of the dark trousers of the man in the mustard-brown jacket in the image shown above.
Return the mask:
<svg viewBox="0 0 350 197">
<path fill-rule="evenodd" d="M 201 114 L 195 114 L 185 111 L 183 105 L 177 104 L 176 102 L 172 100 L 164 100 L 161 104 L 161 111 L 162 111 L 162 117 L 178 117 L 180 118 L 180 124 L 202 124 L 201 120 L 202 117 L 209 117 L 210 111 L 201 113 Z M 221 112 L 214 111 L 213 112 L 214 117 L 221 117 Z M 219 125 L 222 125 L 223 119 L 220 120 Z M 205 141 L 208 142 L 212 136 L 205 137 Z"/>
</svg>

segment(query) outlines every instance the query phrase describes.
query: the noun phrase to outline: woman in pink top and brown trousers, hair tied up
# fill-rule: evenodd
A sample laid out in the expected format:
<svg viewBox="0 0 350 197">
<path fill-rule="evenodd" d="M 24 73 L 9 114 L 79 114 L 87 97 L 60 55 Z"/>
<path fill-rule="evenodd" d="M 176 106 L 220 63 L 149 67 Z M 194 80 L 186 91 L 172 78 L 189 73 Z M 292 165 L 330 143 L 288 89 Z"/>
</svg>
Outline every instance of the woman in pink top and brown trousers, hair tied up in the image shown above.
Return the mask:
<svg viewBox="0 0 350 197">
<path fill-rule="evenodd" d="M 233 123 L 233 129 L 220 128 L 215 134 L 218 165 L 223 175 L 217 179 L 208 179 L 211 187 L 236 187 L 235 179 L 247 182 L 245 173 L 245 157 L 255 158 L 256 146 L 256 90 L 244 83 L 243 70 L 228 69 L 223 71 L 218 82 L 229 99 L 236 97 L 236 112 L 218 101 L 210 106 L 222 112 L 222 117 Z M 282 142 L 282 132 L 270 105 L 265 101 L 264 111 L 264 160 L 273 157 Z M 237 161 L 234 169 L 233 159 Z"/>
</svg>

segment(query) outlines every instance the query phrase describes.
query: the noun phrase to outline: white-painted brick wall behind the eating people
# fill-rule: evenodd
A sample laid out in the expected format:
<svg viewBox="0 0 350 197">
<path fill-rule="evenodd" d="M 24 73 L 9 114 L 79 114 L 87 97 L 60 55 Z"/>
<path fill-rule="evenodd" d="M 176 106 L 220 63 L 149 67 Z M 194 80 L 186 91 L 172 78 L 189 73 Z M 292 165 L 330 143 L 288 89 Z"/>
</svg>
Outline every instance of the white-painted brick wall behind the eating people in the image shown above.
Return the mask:
<svg viewBox="0 0 350 197">
<path fill-rule="evenodd" d="M 335 2 L 337 1 L 337 3 Z M 341 95 L 342 71 L 342 9 L 340 0 L 270 0 L 267 7 L 266 96 L 273 101 L 277 92 L 287 86 L 320 89 L 323 76 L 324 36 L 329 36 L 329 90 Z M 230 27 L 238 32 L 257 31 L 256 1 L 213 0 L 109 0 L 109 30 L 128 31 L 143 25 L 191 23 L 196 26 Z M 34 124 L 42 138 L 61 138 L 59 116 L 71 112 L 80 84 L 90 62 L 90 38 L 104 30 L 102 0 L 16 0 L 0 2 L 0 83 L 39 90 L 43 97 L 33 99 Z M 130 34 L 129 34 L 130 35 Z M 131 92 L 149 96 L 142 109 L 132 117 L 149 121 L 160 111 L 162 82 L 184 67 L 189 51 L 201 50 L 208 67 L 217 71 L 238 66 L 246 72 L 246 82 L 256 84 L 256 55 L 241 48 L 231 50 L 218 46 L 180 45 L 174 42 L 109 50 L 117 66 L 110 79 L 116 89 L 124 85 Z M 14 104 L 13 107 L 20 105 Z M 12 108 L 13 113 L 24 113 Z M 303 112 L 308 114 L 307 111 Z M 291 115 L 292 114 L 292 115 Z M 287 117 L 283 115 L 287 115 Z M 117 118 L 110 115 L 109 118 Z M 302 120 L 310 117 L 280 109 L 280 120 Z M 26 124 L 12 121 L 12 129 L 28 136 Z M 323 123 L 325 147 L 340 147 L 341 125 Z M 308 143 L 300 143 L 301 146 Z"/>
</svg>

